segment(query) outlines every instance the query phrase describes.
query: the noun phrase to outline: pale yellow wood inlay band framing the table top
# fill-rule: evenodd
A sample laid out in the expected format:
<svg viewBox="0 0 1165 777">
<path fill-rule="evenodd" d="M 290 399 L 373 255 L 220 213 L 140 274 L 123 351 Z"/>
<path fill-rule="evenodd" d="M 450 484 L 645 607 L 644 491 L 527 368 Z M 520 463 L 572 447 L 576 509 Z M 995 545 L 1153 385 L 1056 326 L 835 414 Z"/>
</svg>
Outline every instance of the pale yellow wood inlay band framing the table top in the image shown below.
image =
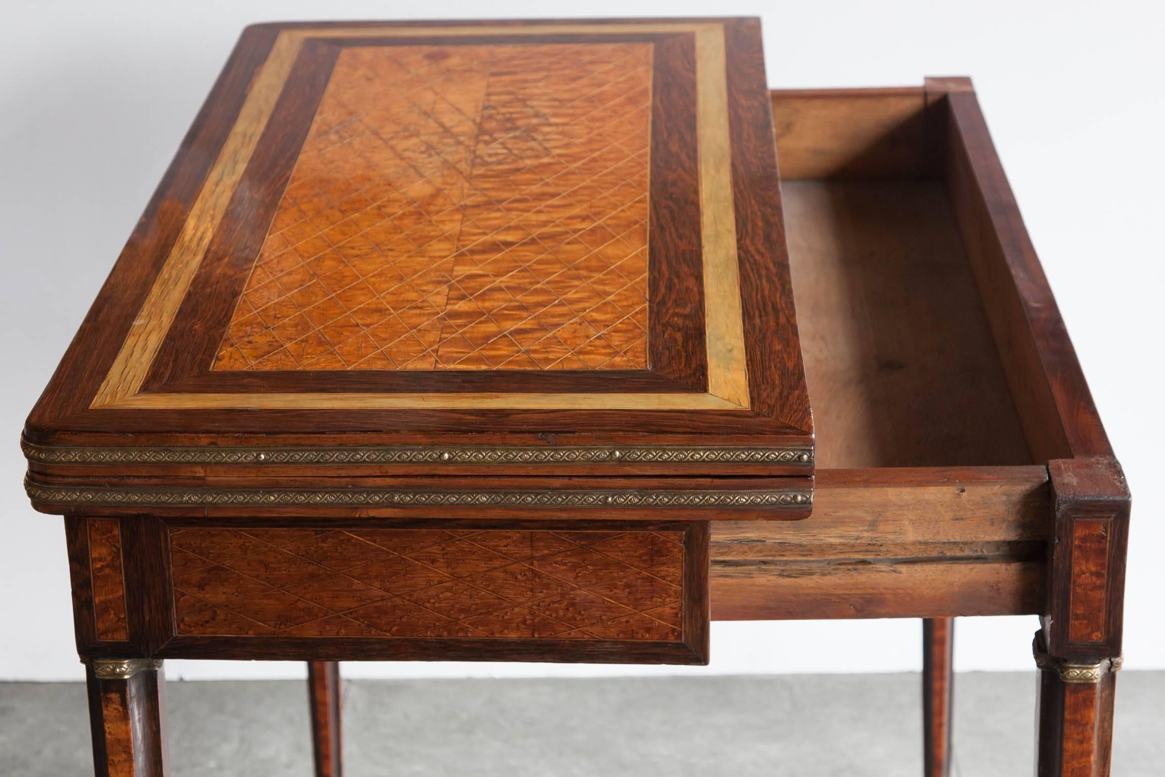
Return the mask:
<svg viewBox="0 0 1165 777">
<path fill-rule="evenodd" d="M 141 394 L 214 231 L 255 150 L 304 41 L 553 34 L 690 33 L 696 40 L 700 200 L 707 309 L 707 394 Z M 729 165 L 727 73 L 720 23 L 539 24 L 531 27 L 337 27 L 284 29 L 252 84 L 191 209 L 91 408 L 538 408 L 747 410 L 735 216 Z"/>
</svg>

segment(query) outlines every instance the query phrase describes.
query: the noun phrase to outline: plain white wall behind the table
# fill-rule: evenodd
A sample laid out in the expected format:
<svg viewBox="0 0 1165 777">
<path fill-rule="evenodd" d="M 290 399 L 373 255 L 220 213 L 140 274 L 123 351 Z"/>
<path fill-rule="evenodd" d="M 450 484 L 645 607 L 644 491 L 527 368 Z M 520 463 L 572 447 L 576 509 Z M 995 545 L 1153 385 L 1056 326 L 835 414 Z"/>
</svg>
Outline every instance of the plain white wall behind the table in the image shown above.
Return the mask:
<svg viewBox="0 0 1165 777">
<path fill-rule="evenodd" d="M 1165 669 L 1160 626 L 1159 31 L 1150 2 L 5 3 L 0 22 L 0 678 L 80 678 L 61 518 L 28 507 L 17 435 L 239 30 L 275 19 L 764 17 L 775 87 L 970 75 L 1136 496 L 1130 669 Z M 1035 619 L 963 619 L 961 669 L 1028 669 Z M 917 621 L 716 623 L 718 672 L 917 669 Z M 297 676 L 172 662 L 171 676 Z M 621 667 L 367 664 L 350 676 L 612 673 Z M 627 671 L 645 672 L 642 667 Z M 664 669 L 664 672 L 675 672 Z M 708 671 L 708 670 L 697 670 Z"/>
</svg>

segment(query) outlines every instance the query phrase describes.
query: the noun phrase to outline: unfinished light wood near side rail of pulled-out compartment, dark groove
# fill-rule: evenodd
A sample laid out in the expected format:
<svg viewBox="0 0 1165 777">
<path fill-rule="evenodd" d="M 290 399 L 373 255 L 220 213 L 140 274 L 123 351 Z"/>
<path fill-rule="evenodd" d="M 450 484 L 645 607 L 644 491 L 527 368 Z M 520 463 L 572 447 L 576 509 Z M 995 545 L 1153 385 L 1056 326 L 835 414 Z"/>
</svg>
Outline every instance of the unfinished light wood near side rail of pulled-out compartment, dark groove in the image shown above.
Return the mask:
<svg viewBox="0 0 1165 777">
<path fill-rule="evenodd" d="M 819 471 L 813 515 L 712 525 L 715 620 L 1036 614 L 1044 467 Z"/>
</svg>

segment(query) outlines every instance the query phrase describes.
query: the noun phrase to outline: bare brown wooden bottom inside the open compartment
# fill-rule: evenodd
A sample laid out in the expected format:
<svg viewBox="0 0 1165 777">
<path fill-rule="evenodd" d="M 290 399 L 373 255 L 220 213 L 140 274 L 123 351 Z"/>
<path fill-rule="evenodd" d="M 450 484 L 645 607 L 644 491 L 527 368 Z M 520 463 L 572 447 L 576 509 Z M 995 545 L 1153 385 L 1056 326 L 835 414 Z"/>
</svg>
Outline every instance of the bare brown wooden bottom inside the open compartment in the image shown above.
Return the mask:
<svg viewBox="0 0 1165 777">
<path fill-rule="evenodd" d="M 789 181 L 818 469 L 1031 462 L 941 181 Z"/>
</svg>

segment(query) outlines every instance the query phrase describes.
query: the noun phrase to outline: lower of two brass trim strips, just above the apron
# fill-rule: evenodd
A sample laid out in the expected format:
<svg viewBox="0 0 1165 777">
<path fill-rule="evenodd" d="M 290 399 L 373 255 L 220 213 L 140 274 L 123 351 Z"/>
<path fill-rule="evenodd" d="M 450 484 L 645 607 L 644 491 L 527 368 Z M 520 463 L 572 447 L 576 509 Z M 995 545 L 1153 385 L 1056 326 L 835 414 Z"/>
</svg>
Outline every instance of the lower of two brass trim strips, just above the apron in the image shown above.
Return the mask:
<svg viewBox="0 0 1165 777">
<path fill-rule="evenodd" d="M 579 507 L 579 508 L 699 508 L 740 507 L 804 509 L 812 504 L 809 489 L 764 490 L 451 490 L 398 488 L 183 488 L 48 486 L 24 479 L 34 502 L 78 506 L 143 507 Z"/>
</svg>

